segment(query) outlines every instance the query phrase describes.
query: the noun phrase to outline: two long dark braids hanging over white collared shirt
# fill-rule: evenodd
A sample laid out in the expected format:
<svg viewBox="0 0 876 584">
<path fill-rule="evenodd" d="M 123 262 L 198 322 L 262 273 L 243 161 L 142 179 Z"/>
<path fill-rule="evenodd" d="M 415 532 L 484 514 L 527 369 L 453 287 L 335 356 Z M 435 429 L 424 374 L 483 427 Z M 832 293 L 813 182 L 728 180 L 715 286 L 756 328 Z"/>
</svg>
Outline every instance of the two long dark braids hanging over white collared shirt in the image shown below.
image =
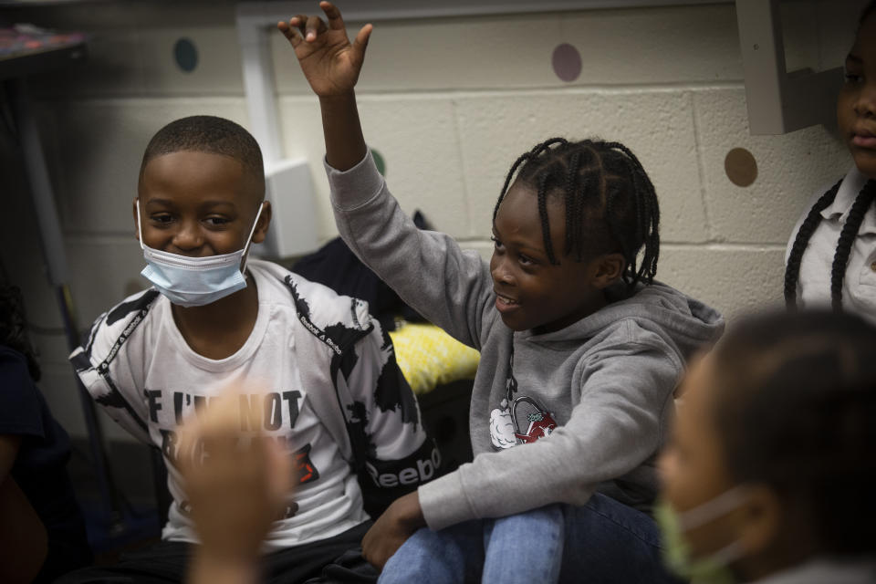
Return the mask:
<svg viewBox="0 0 876 584">
<path fill-rule="evenodd" d="M 797 308 L 797 283 L 803 252 L 806 251 L 809 239 L 821 222 L 821 212 L 837 198 L 841 183 L 842 181 L 830 187 L 812 205 L 803 223 L 800 224 L 794 244 L 791 245 L 791 253 L 787 256 L 785 269 L 785 303 L 788 308 Z M 846 217 L 846 223 L 840 231 L 840 240 L 837 242 L 837 250 L 834 252 L 833 264 L 830 267 L 830 303 L 834 310 L 842 309 L 842 282 L 846 275 L 846 266 L 849 264 L 851 246 L 854 244 L 855 235 L 858 235 L 860 224 L 864 221 L 864 215 L 867 214 L 874 200 L 876 200 L 876 181 L 870 180 L 855 197 L 855 202 L 851 204 Z"/>
</svg>

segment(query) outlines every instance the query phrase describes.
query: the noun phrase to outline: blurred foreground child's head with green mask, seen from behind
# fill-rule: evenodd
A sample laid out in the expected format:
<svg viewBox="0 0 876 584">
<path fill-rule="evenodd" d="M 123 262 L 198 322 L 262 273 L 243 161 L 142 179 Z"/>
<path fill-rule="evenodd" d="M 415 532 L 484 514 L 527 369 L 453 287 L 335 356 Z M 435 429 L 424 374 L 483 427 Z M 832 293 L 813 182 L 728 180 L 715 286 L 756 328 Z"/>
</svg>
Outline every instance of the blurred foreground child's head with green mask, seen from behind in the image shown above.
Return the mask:
<svg viewBox="0 0 876 584">
<path fill-rule="evenodd" d="M 827 310 L 749 319 L 682 389 L 656 515 L 674 571 L 876 582 L 876 328 Z"/>
</svg>

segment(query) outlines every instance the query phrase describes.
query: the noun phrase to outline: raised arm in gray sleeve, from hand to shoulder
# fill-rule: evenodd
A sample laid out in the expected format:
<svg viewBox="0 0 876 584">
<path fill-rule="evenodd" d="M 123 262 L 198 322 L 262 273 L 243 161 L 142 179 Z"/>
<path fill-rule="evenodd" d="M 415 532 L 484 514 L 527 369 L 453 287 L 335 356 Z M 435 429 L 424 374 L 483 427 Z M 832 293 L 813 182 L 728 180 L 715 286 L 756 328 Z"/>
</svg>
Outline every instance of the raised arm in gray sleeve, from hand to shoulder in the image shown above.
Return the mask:
<svg viewBox="0 0 876 584">
<path fill-rule="evenodd" d="M 488 267 L 449 235 L 417 229 L 392 198 L 362 138 L 353 92 L 371 26 L 363 26 L 350 44 L 338 9 L 328 2 L 321 6 L 328 24 L 316 16 L 296 16 L 278 28 L 319 97 L 339 233 L 407 304 L 454 338 L 480 348 L 489 326 L 485 317 L 495 317 Z"/>
</svg>

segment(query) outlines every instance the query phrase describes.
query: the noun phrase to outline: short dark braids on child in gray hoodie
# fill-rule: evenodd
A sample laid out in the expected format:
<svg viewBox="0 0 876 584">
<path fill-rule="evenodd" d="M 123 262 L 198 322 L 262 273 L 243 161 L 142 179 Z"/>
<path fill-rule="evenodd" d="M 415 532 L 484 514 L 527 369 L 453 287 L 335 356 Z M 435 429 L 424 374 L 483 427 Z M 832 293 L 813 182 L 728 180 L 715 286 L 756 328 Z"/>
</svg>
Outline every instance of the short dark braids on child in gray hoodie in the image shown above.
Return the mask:
<svg viewBox="0 0 876 584">
<path fill-rule="evenodd" d="M 537 193 L 538 215 L 547 258 L 558 265 L 551 245 L 547 197 L 562 197 L 566 207 L 566 242 L 562 253 L 578 262 L 620 252 L 626 265 L 621 277 L 629 287 L 651 284 L 660 255 L 660 207 L 648 174 L 620 142 L 551 138 L 522 154 L 502 186 L 493 210 L 515 179 Z M 641 265 L 637 257 L 644 246 Z"/>
</svg>

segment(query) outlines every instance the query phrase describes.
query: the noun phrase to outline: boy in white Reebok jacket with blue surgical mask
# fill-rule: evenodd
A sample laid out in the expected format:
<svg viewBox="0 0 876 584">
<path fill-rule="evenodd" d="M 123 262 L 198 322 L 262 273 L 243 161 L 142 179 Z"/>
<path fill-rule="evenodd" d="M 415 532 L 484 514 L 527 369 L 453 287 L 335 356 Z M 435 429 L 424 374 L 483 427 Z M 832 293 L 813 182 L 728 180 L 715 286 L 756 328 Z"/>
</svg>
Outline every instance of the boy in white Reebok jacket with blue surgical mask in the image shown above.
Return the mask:
<svg viewBox="0 0 876 584">
<path fill-rule="evenodd" d="M 368 512 L 438 463 L 380 323 L 360 300 L 247 262 L 271 208 L 258 145 L 232 121 L 193 116 L 159 130 L 133 218 L 152 287 L 101 315 L 70 359 L 114 420 L 161 449 L 173 502 L 161 544 L 66 581 L 183 578 L 200 538 L 179 468 L 208 460 L 210 448 L 183 447 L 177 427 L 228 381 L 263 388 L 236 401 L 241 440 L 264 433 L 293 462 L 294 491 L 261 547 L 265 581 L 318 578 L 326 567 L 322 581 L 376 579 L 359 553 Z M 372 480 L 366 464 L 404 480 Z"/>
</svg>

